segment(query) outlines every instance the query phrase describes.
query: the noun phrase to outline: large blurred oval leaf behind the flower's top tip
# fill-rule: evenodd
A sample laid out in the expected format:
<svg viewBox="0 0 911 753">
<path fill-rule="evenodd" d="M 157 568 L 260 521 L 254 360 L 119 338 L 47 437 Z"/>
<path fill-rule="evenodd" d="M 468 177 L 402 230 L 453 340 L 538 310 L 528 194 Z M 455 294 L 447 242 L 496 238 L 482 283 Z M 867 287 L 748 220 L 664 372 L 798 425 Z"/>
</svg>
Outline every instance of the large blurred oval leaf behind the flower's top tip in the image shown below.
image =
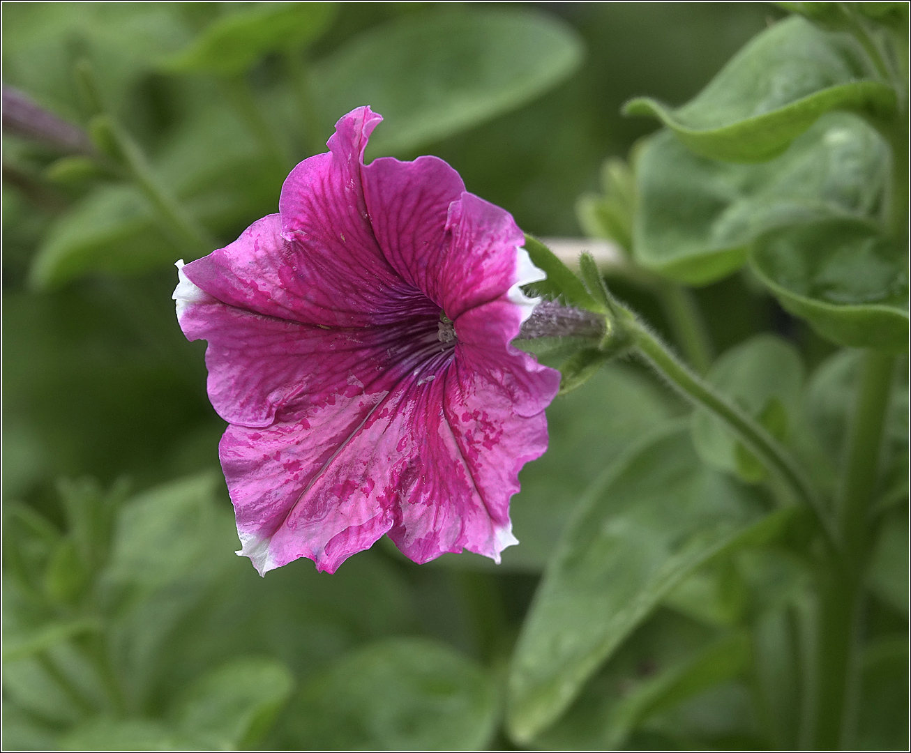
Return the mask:
<svg viewBox="0 0 911 753">
<path fill-rule="evenodd" d="M 313 69 L 326 124 L 369 104 L 385 118 L 368 155 L 418 148 L 538 97 L 569 76 L 582 43 L 535 10 L 405 15 L 354 37 Z"/>
</svg>

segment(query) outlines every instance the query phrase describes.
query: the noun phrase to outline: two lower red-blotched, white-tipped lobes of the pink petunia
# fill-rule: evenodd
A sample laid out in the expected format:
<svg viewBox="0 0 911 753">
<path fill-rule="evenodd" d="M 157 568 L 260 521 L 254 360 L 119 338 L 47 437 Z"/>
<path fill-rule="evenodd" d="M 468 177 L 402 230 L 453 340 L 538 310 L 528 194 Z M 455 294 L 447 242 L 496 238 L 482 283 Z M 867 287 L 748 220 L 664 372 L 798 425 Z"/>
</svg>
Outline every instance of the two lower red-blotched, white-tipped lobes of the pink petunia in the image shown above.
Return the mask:
<svg viewBox="0 0 911 753">
<path fill-rule="evenodd" d="M 327 431 L 340 413 L 306 429 L 297 421 L 256 432 L 229 427 L 222 467 L 241 554 L 261 572 L 301 556 L 334 572 L 389 532 L 415 562 L 463 548 L 498 561 L 515 543 L 508 501 L 518 471 L 547 448 L 549 398 L 523 389 L 543 386 L 552 398 L 558 383 L 534 363 L 537 382 L 512 373 L 525 370 L 526 358 L 517 353 L 498 371 L 466 368 L 457 355 L 425 362 L 372 410 L 359 395 L 346 437 Z"/>
</svg>

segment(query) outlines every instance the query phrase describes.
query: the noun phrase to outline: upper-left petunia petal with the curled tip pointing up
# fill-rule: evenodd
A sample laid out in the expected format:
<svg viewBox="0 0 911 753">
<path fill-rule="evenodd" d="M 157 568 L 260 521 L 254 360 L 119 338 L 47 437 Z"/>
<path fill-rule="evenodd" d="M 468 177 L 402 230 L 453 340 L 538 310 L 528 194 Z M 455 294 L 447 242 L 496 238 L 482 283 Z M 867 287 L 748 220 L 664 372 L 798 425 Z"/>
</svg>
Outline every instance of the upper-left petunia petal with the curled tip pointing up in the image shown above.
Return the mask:
<svg viewBox="0 0 911 753">
<path fill-rule="evenodd" d="M 290 321 L 359 327 L 399 320 L 418 293 L 376 245 L 358 162 L 377 119 L 362 107 L 339 120 L 332 150 L 303 160 L 285 180 L 280 213 L 190 262 L 187 278 L 224 303 Z"/>
</svg>

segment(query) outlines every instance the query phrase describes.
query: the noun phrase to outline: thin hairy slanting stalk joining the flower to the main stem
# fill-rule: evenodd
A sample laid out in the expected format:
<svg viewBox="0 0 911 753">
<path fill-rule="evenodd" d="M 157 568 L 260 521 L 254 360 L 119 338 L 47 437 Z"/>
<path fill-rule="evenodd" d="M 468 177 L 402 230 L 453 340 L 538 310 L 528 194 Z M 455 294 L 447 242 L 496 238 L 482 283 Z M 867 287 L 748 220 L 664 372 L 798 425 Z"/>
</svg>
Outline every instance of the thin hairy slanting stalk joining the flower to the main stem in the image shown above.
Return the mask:
<svg viewBox="0 0 911 753">
<path fill-rule="evenodd" d="M 762 461 L 763 465 L 777 475 L 787 486 L 793 497 L 806 504 L 816 516 L 830 548 L 834 547 L 834 532 L 823 508 L 822 501 L 807 482 L 793 458 L 775 441 L 773 436 L 722 394 L 715 392 L 710 384 L 673 355 L 654 334 L 629 312 L 626 331 L 633 345 L 645 360 L 660 373 L 678 392 L 722 419 L 728 427 Z"/>
</svg>

